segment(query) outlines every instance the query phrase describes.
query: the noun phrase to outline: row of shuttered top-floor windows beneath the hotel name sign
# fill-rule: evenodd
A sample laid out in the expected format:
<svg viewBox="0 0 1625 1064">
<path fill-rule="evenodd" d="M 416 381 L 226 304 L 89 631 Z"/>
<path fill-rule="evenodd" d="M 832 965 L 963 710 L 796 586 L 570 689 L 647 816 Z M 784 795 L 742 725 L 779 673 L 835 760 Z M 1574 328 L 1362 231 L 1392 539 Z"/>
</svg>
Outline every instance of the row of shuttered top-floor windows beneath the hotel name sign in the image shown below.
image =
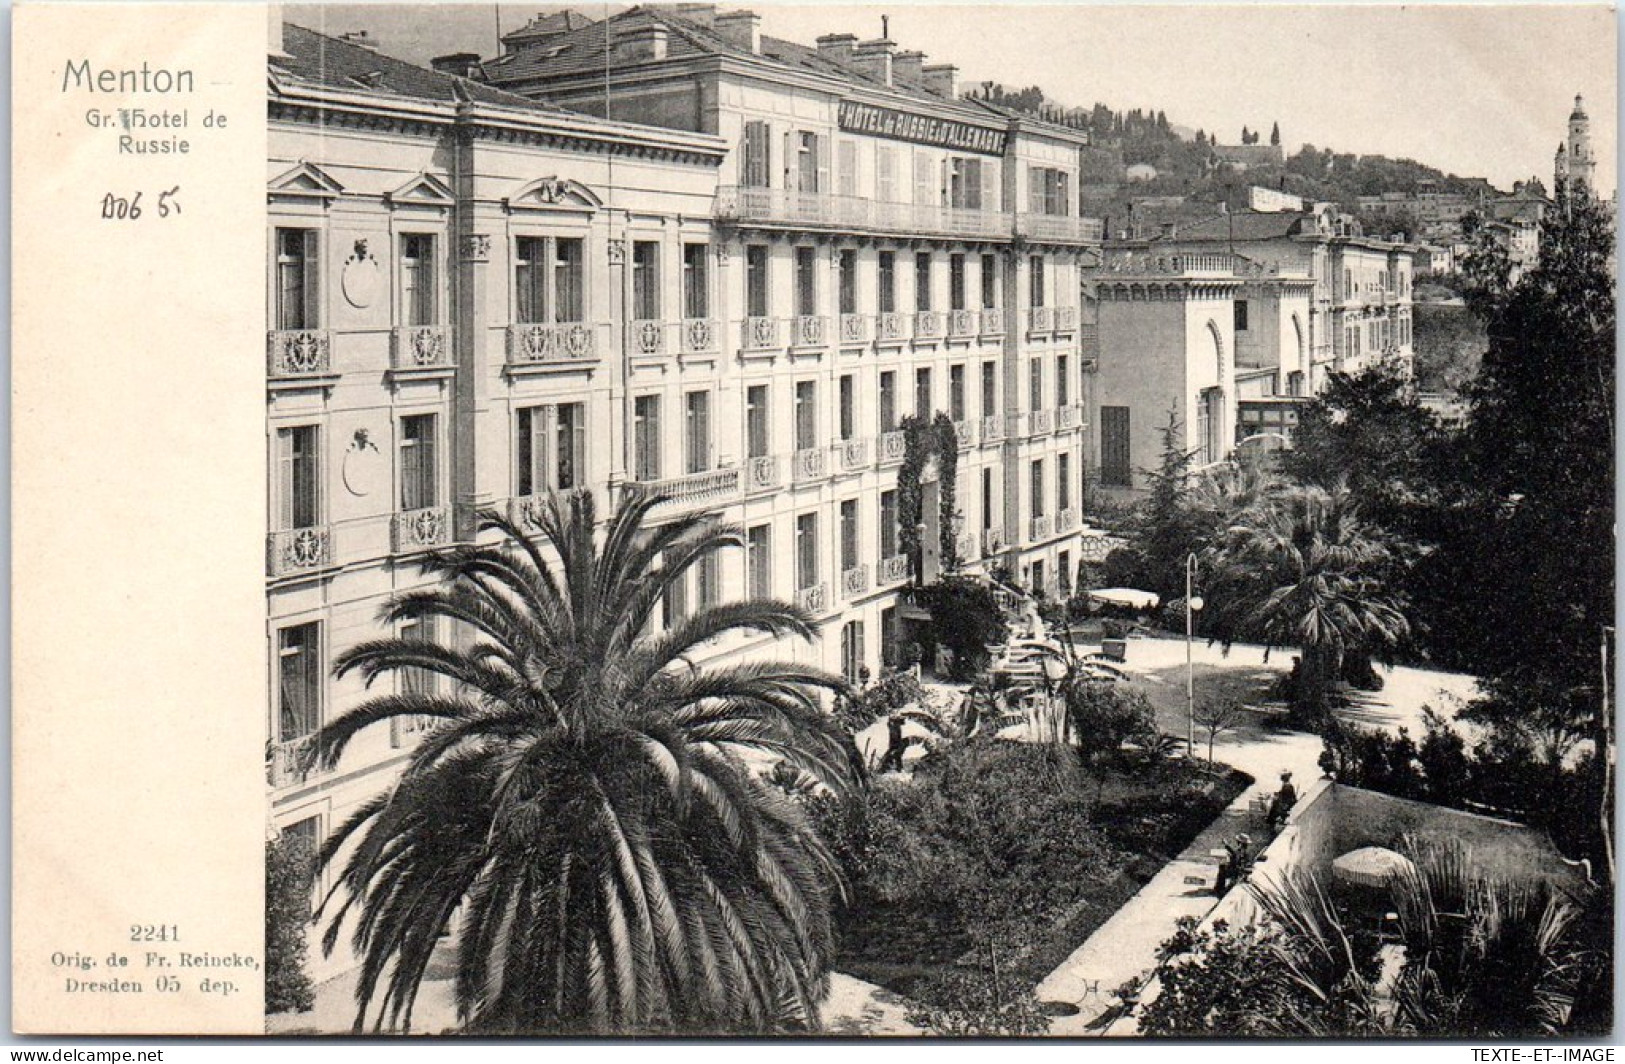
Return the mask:
<svg viewBox="0 0 1625 1064">
<path fill-rule="evenodd" d="M 811 195 L 856 198 L 860 192 L 858 141 L 835 140 L 812 130 L 783 130 L 774 149 L 772 125 L 762 120 L 744 123 L 739 140 L 739 184 L 746 188 L 783 188 Z M 905 148 L 874 146 L 874 198 L 879 203 L 904 203 L 902 169 L 910 156 Z M 913 203 L 970 211 L 999 210 L 999 159 L 970 154 L 936 156 L 912 149 Z M 777 177 L 777 180 L 775 180 Z M 1027 210 L 1035 214 L 1071 214 L 1072 175 L 1055 167 L 1034 166 L 1027 171 Z"/>
</svg>

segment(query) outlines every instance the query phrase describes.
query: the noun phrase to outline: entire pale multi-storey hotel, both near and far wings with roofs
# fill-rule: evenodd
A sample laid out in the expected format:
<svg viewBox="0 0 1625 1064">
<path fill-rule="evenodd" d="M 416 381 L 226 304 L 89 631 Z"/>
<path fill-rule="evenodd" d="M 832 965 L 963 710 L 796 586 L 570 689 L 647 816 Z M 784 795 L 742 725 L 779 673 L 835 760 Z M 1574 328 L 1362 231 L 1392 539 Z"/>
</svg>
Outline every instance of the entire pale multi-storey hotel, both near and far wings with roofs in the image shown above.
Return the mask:
<svg viewBox="0 0 1625 1064">
<path fill-rule="evenodd" d="M 588 489 L 606 513 L 637 482 L 670 495 L 656 518 L 715 513 L 746 547 L 694 572 L 663 624 L 793 599 L 821 640 L 738 637 L 715 658 L 848 674 L 905 642 L 915 565 L 1048 590 L 1076 570 L 1079 286 L 1100 242 L 1076 206 L 1081 133 L 959 101 L 951 68 L 890 41 L 801 49 L 748 13 L 554 18 L 517 37 L 525 50 L 463 76 L 474 57 L 431 71 L 273 32 L 275 832 L 325 838 L 400 770 L 410 723 L 367 729 L 333 770 L 302 752 L 369 694 L 333 679 L 336 655 L 387 635 L 384 603 L 422 586 L 424 554 L 473 538 L 486 508 L 523 526 L 546 492 Z M 538 47 L 556 84 L 520 63 Z M 567 71 L 593 63 L 572 94 Z M 954 422 L 954 517 L 941 534 L 934 460 L 908 559 L 902 421 L 938 413 Z M 385 676 L 370 694 L 434 684 Z M 318 978 L 348 965 L 314 958 Z"/>
</svg>

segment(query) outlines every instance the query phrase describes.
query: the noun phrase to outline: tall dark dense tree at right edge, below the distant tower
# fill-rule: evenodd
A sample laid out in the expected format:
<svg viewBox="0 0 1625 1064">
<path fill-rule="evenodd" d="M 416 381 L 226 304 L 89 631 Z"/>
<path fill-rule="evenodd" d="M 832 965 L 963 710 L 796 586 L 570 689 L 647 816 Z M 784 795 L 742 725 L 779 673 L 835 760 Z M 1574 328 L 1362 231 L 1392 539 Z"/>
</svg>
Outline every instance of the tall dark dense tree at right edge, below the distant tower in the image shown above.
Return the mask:
<svg viewBox="0 0 1625 1064">
<path fill-rule="evenodd" d="M 1469 390 L 1474 536 L 1456 552 L 1462 664 L 1485 677 L 1492 728 L 1544 733 L 1560 759 L 1607 747 L 1597 645 L 1614 621 L 1615 304 L 1612 216 L 1557 190 L 1540 260 L 1482 297 L 1488 349 Z M 1493 573 L 1493 578 L 1490 577 Z"/>
</svg>

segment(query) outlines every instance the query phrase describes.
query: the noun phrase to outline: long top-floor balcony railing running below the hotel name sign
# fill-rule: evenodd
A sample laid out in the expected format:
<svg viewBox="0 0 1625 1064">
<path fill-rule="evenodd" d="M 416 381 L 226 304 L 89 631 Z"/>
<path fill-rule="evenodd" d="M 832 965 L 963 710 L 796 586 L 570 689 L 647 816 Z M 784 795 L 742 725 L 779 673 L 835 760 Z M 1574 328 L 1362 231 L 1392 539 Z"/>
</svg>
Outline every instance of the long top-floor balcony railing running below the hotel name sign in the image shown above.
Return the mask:
<svg viewBox="0 0 1625 1064">
<path fill-rule="evenodd" d="M 796 229 L 972 237 L 1003 237 L 1011 232 L 1011 216 L 1003 211 L 743 185 L 720 187 L 712 216 L 722 223 Z"/>
</svg>

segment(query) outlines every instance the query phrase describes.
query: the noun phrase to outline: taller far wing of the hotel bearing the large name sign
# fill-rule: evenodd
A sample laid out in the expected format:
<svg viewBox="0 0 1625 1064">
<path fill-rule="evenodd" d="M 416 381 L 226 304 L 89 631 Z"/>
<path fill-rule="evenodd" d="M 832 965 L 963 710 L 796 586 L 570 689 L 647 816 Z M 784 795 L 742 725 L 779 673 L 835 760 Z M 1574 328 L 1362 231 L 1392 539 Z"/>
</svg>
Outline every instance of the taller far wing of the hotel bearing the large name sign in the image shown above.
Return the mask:
<svg viewBox="0 0 1625 1064">
<path fill-rule="evenodd" d="M 959 528 L 941 536 L 928 471 L 923 578 L 952 543 L 962 565 L 1069 586 L 1087 439 L 1079 284 L 1100 226 L 1077 206 L 1084 133 L 962 99 L 952 67 L 884 36 L 806 47 L 759 21 L 710 5 L 575 28 L 544 16 L 483 73 L 726 145 L 700 219 L 718 357 L 681 357 L 686 325 L 670 304 L 632 307 L 635 447 L 611 481 L 655 482 L 746 526 L 762 559 L 746 567 L 751 590 L 827 617 L 824 664 L 855 674 L 905 642 L 897 466 L 910 414 L 944 413 L 959 435 Z M 655 227 L 629 239 L 668 253 Z M 694 395 L 707 396 L 704 456 L 684 450 L 686 413 L 656 414 Z M 689 458 L 674 469 L 660 455 Z"/>
</svg>

